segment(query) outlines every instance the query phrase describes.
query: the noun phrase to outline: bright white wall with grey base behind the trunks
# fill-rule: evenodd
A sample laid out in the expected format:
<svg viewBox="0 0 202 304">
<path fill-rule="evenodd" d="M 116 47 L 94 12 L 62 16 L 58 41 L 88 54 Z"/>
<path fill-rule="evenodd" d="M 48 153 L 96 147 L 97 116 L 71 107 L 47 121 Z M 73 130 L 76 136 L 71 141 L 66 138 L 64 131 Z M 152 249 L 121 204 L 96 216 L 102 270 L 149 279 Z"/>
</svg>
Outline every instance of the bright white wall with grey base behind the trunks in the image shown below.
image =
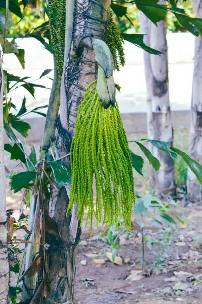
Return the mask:
<svg viewBox="0 0 202 304">
<path fill-rule="evenodd" d="M 188 128 L 189 109 L 191 105 L 192 75 L 194 60 L 194 36 L 190 33 L 167 34 L 170 102 L 173 112 L 174 127 Z M 18 108 L 23 97 L 27 99 L 27 108 L 45 105 L 51 88 L 51 80 L 39 79 L 45 69 L 53 69 L 52 55 L 34 38 L 17 39 L 18 46 L 25 49 L 25 69 L 13 54 L 4 55 L 4 69 L 16 76 L 30 76 L 29 81 L 42 84 L 49 89 L 36 89 L 34 99 L 26 90 L 18 88 L 10 96 Z M 143 66 L 143 51 L 129 42 L 125 42 L 126 66 L 115 72 L 115 83 L 121 87 L 117 92 L 117 100 L 127 133 L 146 132 L 146 83 Z M 155 56 L 155 55 L 153 55 Z M 49 76 L 52 76 L 50 73 Z M 41 141 L 44 118 L 37 114 L 24 117 L 32 130 L 29 131 L 29 141 Z M 6 137 L 5 137 L 5 141 Z"/>
</svg>

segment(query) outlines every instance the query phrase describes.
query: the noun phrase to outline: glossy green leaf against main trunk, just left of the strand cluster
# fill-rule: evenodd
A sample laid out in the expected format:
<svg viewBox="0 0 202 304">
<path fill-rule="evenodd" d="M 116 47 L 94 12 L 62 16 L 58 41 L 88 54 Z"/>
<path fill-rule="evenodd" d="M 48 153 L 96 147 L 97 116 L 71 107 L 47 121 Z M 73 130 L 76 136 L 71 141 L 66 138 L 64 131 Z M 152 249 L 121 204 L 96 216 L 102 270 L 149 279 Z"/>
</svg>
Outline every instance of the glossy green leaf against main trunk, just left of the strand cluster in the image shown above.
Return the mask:
<svg viewBox="0 0 202 304">
<path fill-rule="evenodd" d="M 59 161 L 49 161 L 54 178 L 59 187 L 63 187 L 71 182 L 71 170 L 64 163 Z"/>
</svg>

